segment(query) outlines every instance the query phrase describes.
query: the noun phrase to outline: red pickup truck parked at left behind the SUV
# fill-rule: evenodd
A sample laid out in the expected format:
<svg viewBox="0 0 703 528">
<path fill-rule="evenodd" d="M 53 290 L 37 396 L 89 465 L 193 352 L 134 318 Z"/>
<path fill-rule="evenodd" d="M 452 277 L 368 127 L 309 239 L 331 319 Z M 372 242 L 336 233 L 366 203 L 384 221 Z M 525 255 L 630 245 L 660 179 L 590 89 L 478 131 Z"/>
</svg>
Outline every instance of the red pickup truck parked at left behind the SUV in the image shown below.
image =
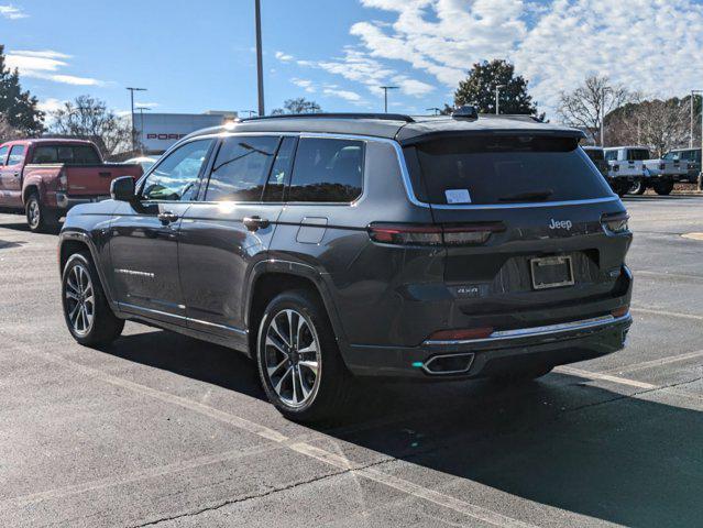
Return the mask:
<svg viewBox="0 0 703 528">
<path fill-rule="evenodd" d="M 73 206 L 107 198 L 114 178 L 141 175 L 141 165 L 105 163 L 89 141 L 10 141 L 0 145 L 0 208 L 23 210 L 32 231 L 50 231 Z"/>
</svg>

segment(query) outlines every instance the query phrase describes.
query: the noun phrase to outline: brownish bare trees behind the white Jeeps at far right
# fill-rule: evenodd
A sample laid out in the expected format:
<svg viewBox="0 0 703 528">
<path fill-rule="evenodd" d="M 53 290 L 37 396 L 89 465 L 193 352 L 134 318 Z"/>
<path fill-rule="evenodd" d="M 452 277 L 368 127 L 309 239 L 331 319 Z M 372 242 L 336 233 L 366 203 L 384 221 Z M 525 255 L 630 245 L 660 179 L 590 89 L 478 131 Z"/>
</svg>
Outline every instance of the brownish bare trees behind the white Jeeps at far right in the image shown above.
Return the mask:
<svg viewBox="0 0 703 528">
<path fill-rule="evenodd" d="M 657 156 L 686 145 L 690 136 L 688 101 L 652 99 L 615 110 L 606 117 L 608 143 L 647 145 Z"/>
</svg>

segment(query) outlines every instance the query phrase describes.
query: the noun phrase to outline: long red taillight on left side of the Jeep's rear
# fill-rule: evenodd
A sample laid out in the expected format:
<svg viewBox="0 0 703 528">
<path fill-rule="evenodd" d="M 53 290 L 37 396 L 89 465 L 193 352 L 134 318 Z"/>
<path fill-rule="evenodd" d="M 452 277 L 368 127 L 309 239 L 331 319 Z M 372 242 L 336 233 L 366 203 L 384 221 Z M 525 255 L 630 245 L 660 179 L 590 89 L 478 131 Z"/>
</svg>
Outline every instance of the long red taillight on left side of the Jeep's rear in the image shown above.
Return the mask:
<svg viewBox="0 0 703 528">
<path fill-rule="evenodd" d="M 469 224 L 413 224 L 374 222 L 367 228 L 374 242 L 396 245 L 476 245 L 505 231 L 501 222 Z"/>
</svg>

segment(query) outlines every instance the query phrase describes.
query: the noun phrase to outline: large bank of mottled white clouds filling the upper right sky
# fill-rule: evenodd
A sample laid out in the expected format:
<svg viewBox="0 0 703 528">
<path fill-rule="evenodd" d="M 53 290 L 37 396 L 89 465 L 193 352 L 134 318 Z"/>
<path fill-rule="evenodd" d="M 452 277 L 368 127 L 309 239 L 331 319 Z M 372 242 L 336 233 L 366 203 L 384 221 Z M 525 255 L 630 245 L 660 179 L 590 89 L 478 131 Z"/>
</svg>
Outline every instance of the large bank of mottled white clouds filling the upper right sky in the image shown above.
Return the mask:
<svg viewBox="0 0 703 528">
<path fill-rule="evenodd" d="M 350 28 L 378 68 L 400 61 L 454 88 L 474 63 L 508 58 L 552 114 L 559 92 L 593 73 L 661 96 L 688 94 L 703 77 L 703 6 L 694 0 L 361 1 L 393 19 Z"/>
</svg>

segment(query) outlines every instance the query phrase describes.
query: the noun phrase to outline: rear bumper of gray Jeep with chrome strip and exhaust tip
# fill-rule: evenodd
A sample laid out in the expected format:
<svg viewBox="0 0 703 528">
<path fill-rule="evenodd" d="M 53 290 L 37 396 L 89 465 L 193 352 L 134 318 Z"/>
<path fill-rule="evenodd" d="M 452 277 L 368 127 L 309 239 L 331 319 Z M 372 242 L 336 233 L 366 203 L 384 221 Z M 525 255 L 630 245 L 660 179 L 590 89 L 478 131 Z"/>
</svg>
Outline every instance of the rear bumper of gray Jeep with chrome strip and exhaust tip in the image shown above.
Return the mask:
<svg viewBox="0 0 703 528">
<path fill-rule="evenodd" d="M 466 341 L 425 341 L 414 348 L 349 345 L 347 366 L 360 376 L 474 378 L 517 367 L 554 366 L 616 352 L 625 345 L 629 314 L 494 332 Z M 442 361 L 438 361 L 438 360 Z M 443 363 L 447 359 L 449 363 Z M 442 366 L 444 365 L 444 366 Z M 447 369 L 447 372 L 435 372 Z"/>
</svg>

